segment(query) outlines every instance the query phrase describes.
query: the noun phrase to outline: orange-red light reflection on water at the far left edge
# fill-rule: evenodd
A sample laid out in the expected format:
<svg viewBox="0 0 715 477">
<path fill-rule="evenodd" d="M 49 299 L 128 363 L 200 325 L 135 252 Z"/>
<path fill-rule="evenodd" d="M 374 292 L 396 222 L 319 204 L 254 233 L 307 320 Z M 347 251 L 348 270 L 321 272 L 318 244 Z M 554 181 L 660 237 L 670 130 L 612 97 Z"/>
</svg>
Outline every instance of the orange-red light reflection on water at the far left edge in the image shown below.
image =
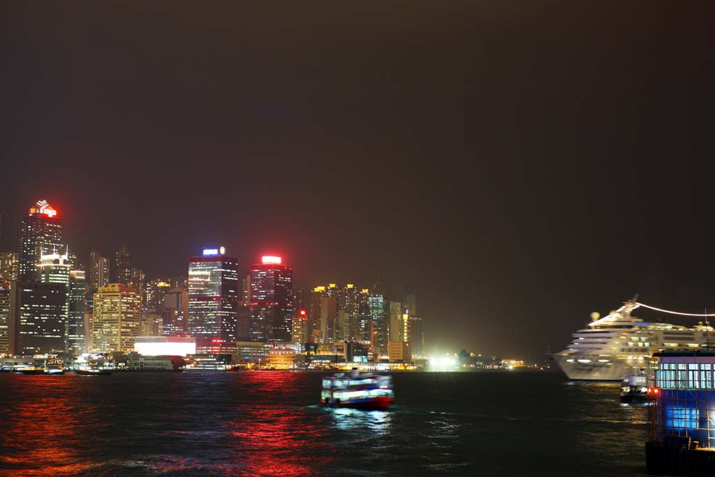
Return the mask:
<svg viewBox="0 0 715 477">
<path fill-rule="evenodd" d="M 6 421 L 0 432 L 0 469 L 28 477 L 76 476 L 93 463 L 79 456 L 84 416 L 92 409 L 75 408 L 80 396 L 75 380 L 64 376 L 13 376 L 25 389 L 36 392 L 19 396 L 4 408 Z M 1 473 L 1 470 L 0 470 Z"/>
</svg>

